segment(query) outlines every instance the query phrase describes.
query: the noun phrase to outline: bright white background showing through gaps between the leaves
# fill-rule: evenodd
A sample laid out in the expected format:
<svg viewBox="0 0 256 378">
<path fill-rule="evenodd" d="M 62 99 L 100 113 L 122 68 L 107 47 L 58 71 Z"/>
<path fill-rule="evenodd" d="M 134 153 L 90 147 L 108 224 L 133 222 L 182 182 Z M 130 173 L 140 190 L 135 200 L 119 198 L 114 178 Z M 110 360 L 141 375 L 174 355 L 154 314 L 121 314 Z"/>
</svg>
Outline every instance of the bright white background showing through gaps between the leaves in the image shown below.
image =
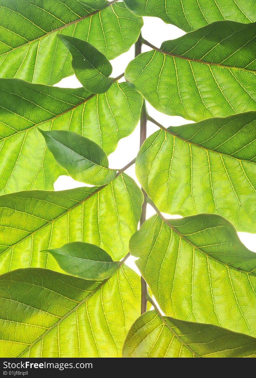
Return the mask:
<svg viewBox="0 0 256 378">
<path fill-rule="evenodd" d="M 174 1 L 174 0 L 173 0 Z M 162 20 L 156 17 L 143 17 L 144 26 L 142 27 L 142 36 L 143 38 L 147 39 L 153 45 L 160 47 L 161 43 L 164 40 L 168 39 L 175 39 L 185 34 L 184 31 L 177 28 L 174 25 L 167 25 Z M 142 51 L 149 51 L 151 50 L 150 47 L 143 45 Z M 117 77 L 121 74 L 125 67 L 128 65 L 130 60 L 134 58 L 134 46 L 131 47 L 129 51 L 120 55 L 114 60 L 111 60 L 111 64 L 113 66 L 113 73 L 111 74 L 112 77 Z M 123 81 L 121 79 L 120 81 Z M 62 79 L 57 86 L 59 87 L 66 87 L 66 88 L 77 88 L 81 87 L 81 84 L 76 79 L 75 76 L 69 76 L 65 79 Z M 188 122 L 188 120 L 179 117 L 179 116 L 167 116 L 163 113 L 158 112 L 155 110 L 150 104 L 147 103 L 147 110 L 150 116 L 156 119 L 158 122 L 163 124 L 165 127 L 168 126 L 179 126 L 184 125 Z M 148 122 L 147 125 L 147 136 L 151 135 L 158 129 L 157 126 Z M 127 138 L 123 138 L 119 141 L 117 149 L 109 155 L 109 167 L 111 168 L 122 168 L 126 164 L 128 164 L 133 158 L 137 155 L 139 151 L 139 125 L 137 125 L 134 132 L 128 136 Z M 139 185 L 139 182 L 135 175 L 134 165 L 126 170 L 126 173 L 130 175 Z M 78 186 L 85 186 L 83 183 L 79 183 L 73 180 L 71 177 L 68 176 L 60 176 L 55 184 L 55 190 L 64 190 L 64 189 L 71 189 Z M 148 206 L 147 208 L 147 218 L 151 217 L 154 214 L 154 210 Z M 177 218 L 178 215 L 171 217 L 170 215 L 166 214 L 167 218 Z M 242 242 L 247 246 L 247 248 L 251 249 L 252 251 L 256 252 L 256 234 L 248 234 L 246 232 L 239 232 L 239 237 Z M 127 265 L 138 272 L 133 258 L 130 257 L 126 260 Z"/>
</svg>

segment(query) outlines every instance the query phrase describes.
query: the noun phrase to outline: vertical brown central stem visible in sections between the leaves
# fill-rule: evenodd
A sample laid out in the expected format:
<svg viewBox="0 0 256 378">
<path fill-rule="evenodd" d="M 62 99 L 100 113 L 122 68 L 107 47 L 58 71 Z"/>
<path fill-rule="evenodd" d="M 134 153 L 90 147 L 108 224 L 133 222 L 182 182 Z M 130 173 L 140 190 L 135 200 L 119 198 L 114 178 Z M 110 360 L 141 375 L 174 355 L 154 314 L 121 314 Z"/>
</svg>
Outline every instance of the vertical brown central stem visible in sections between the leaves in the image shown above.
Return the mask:
<svg viewBox="0 0 256 378">
<path fill-rule="evenodd" d="M 142 42 L 143 38 L 142 35 L 139 35 L 139 38 L 137 42 L 135 43 L 135 56 L 141 54 L 141 48 L 142 48 Z M 143 100 L 143 105 L 142 109 L 140 112 L 140 147 L 142 146 L 143 142 L 147 138 L 147 118 L 148 113 L 147 113 L 147 107 L 146 107 L 146 102 Z M 144 196 L 144 201 L 142 204 L 142 212 L 141 212 L 141 217 L 140 217 L 140 226 L 145 222 L 146 220 L 146 211 L 147 211 L 147 201 L 146 201 L 146 193 L 142 189 L 142 193 Z M 144 278 L 141 276 L 140 277 L 140 283 L 141 283 L 141 307 L 140 307 L 140 313 L 143 314 L 144 312 L 147 311 L 147 301 L 148 301 L 148 287 L 147 283 L 144 280 Z"/>
</svg>

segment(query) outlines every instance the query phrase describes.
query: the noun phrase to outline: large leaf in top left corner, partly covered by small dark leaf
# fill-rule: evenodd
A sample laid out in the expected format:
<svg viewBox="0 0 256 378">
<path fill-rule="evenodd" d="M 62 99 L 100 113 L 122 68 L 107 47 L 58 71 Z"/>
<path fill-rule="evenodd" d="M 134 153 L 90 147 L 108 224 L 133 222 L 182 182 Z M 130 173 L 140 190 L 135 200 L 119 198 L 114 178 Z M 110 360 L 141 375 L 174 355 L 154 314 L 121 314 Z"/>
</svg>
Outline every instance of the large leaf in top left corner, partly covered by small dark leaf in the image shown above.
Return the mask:
<svg viewBox="0 0 256 378">
<path fill-rule="evenodd" d="M 123 2 L 0 0 L 0 76 L 55 84 L 72 75 L 58 34 L 86 40 L 113 59 L 136 42 L 142 25 Z"/>
</svg>

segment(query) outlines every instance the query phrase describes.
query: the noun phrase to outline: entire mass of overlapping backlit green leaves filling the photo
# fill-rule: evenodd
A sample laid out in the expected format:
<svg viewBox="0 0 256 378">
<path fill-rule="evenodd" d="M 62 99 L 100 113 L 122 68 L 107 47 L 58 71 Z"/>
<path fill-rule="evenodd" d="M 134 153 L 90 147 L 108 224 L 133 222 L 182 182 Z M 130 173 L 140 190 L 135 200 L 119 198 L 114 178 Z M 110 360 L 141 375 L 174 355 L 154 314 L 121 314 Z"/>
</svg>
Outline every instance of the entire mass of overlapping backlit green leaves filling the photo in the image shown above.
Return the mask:
<svg viewBox="0 0 256 378">
<path fill-rule="evenodd" d="M 157 48 L 148 15 L 188 33 Z M 253 0 L 0 0 L 2 357 L 256 357 L 256 255 L 236 232 L 256 232 L 255 21 Z M 150 51 L 119 82 L 109 60 L 134 43 Z M 81 88 L 52 86 L 73 73 Z M 135 156 L 107 157 L 140 118 L 159 127 L 144 196 Z M 53 191 L 60 174 L 90 186 Z M 146 294 L 139 316 L 129 251 L 164 315 Z"/>
</svg>

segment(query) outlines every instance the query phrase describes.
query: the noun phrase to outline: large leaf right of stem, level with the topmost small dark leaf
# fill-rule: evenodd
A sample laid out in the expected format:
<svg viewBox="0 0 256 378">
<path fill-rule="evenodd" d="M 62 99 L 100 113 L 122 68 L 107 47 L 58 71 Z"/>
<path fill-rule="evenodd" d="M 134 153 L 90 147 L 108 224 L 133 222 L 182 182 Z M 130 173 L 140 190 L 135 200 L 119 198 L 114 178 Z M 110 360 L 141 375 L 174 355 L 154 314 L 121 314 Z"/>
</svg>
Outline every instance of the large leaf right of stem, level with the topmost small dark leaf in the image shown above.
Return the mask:
<svg viewBox="0 0 256 378">
<path fill-rule="evenodd" d="M 255 46 L 256 23 L 219 21 L 140 54 L 125 77 L 168 115 L 200 121 L 256 110 Z"/>
</svg>

